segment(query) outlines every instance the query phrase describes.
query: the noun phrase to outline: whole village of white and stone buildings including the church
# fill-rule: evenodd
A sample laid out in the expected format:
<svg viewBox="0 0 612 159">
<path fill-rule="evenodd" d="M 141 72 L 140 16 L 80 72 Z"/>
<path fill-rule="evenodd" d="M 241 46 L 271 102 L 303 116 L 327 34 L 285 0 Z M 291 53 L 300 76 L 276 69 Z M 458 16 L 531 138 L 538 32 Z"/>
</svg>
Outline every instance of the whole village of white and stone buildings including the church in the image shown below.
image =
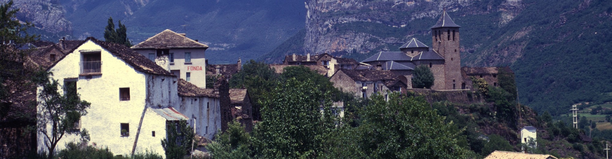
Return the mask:
<svg viewBox="0 0 612 159">
<path fill-rule="evenodd" d="M 479 92 L 483 87 L 499 88 L 505 84 L 500 80 L 501 76 L 513 77 L 514 73 L 510 67 L 461 67 L 460 28 L 470 26 L 458 24 L 461 22 L 455 23 L 444 11 L 431 28 L 422 28 L 430 29 L 432 46 L 421 42 L 429 39 L 405 39 L 405 44 L 398 48 L 400 51 L 380 51 L 364 61 L 328 53 L 306 53 L 287 54 L 282 63 L 266 65 L 278 74 L 288 68 L 305 67 L 324 76 L 335 89 L 352 95 L 351 98 L 365 101 L 383 98 L 392 103 L 392 100 L 400 98 L 397 95 L 406 98 L 409 95 L 423 95 L 427 102 L 438 102 L 438 98 L 466 105 L 483 102 L 484 97 L 474 92 Z M 15 137 L 7 139 L 3 136 L 0 139 L 0 158 L 26 151 L 59 152 L 70 149 L 67 143 L 81 141 L 83 130 L 91 138 L 89 143 L 104 146 L 113 154 L 133 156 L 137 152 L 151 150 L 162 157 L 166 157 L 163 152 L 168 150 L 160 141 L 163 143 L 164 139 L 170 138 L 173 131 L 185 131 L 179 126 L 168 127 L 169 124 L 181 125 L 179 123 L 183 121 L 183 126 L 193 130 L 193 138 L 197 141 L 189 146 L 192 154 L 209 152 L 206 145 L 220 140 L 218 136 L 233 128 L 233 121 L 244 127 L 246 132 L 253 131 L 267 109 L 255 104 L 252 97 L 259 94 L 254 94 L 253 90 L 244 86 L 230 86 L 230 79 L 244 71 L 243 65 L 247 60 L 238 58 L 232 64 L 214 64 L 206 56 L 215 54 L 215 51 L 207 50 L 209 46 L 195 40 L 198 38 L 201 37 L 166 29 L 131 47 L 98 37 L 28 43 L 20 48 L 29 53 L 26 60 L 17 62 L 18 65 L 24 68 L 42 67 L 52 72 L 49 80 L 58 83 L 53 86 L 60 96 L 74 96 L 91 105 L 61 136 L 43 131 L 17 135 L 32 125 L 39 124 L 38 127 L 41 127 L 41 123 L 46 124 L 42 130 L 49 131 L 57 129 L 57 125 L 51 120 L 40 122 L 43 120 L 41 114 L 47 113 L 47 105 L 52 103 L 43 95 L 47 93 L 47 85 L 26 89 L 12 87 L 11 94 L 19 95 L 2 102 L 9 101 L 7 103 L 23 109 L 25 116 L 39 117 L 39 121 L 3 121 L 12 126 L 2 127 L 2 135 Z M 37 103 L 36 109 L 27 110 L 30 101 Z M 335 116 L 348 116 L 345 115 L 349 114 L 348 103 L 330 103 Z M 512 106 L 513 109 L 517 109 L 517 106 L 520 110 L 524 109 L 520 105 Z M 327 107 L 321 104 L 319 109 L 324 112 Z M 517 112 L 523 113 L 518 116 L 528 113 Z M 577 116 L 573 118 L 573 124 L 578 128 Z M 523 125 L 528 122 L 523 118 L 518 120 L 521 121 L 515 123 L 520 123 L 521 127 L 512 131 L 503 130 L 503 133 L 510 131 L 512 135 L 502 137 L 535 149 L 538 145 L 536 141 L 539 141 L 537 136 L 540 136 L 537 132 L 541 132 L 538 125 Z M 496 131 L 483 130 L 479 138 L 488 139 L 485 135 L 494 135 L 491 132 Z M 550 154 L 529 153 L 529 146 L 521 148 L 521 152 L 495 150 L 482 157 L 557 158 Z"/>
</svg>

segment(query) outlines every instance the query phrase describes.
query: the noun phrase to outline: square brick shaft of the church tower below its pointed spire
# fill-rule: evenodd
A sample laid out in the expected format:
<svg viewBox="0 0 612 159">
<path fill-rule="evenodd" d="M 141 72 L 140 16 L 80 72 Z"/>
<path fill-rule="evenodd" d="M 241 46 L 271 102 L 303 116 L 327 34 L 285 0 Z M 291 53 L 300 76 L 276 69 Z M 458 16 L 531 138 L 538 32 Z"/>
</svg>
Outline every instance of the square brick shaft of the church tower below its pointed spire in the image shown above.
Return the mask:
<svg viewBox="0 0 612 159">
<path fill-rule="evenodd" d="M 444 57 L 444 89 L 453 89 L 453 84 L 455 84 L 454 89 L 461 89 L 463 77 L 461 76 L 459 28 L 442 27 L 431 30 L 433 48 Z"/>
</svg>

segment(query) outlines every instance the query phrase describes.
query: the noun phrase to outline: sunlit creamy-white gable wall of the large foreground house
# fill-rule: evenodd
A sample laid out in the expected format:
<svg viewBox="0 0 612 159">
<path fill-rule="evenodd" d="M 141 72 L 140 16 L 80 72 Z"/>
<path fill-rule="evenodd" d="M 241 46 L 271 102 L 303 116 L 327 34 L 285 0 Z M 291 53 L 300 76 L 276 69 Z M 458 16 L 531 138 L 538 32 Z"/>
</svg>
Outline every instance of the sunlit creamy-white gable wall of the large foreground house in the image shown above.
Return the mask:
<svg viewBox="0 0 612 159">
<path fill-rule="evenodd" d="M 80 72 L 79 62 L 81 53 L 79 50 L 101 50 L 102 75 L 94 75 L 91 79 L 78 76 Z M 167 85 L 169 76 L 165 76 L 164 82 L 159 82 L 162 76 L 148 81 L 151 84 L 147 88 L 146 73 L 138 72 L 132 66 L 126 64 L 113 54 L 104 50 L 91 40 L 81 45 L 73 53 L 59 61 L 51 68 L 53 78 L 63 84 L 64 78 L 78 78 L 76 86 L 81 100 L 91 103 L 91 108 L 87 109 L 88 114 L 81 118 L 81 128 L 86 128 L 91 135 L 90 143 L 108 147 L 116 155 L 130 154 L 135 141 L 136 131 L 143 111 L 147 105 L 163 105 L 170 103 L 172 98 L 163 95 L 176 95 L 176 83 Z M 119 101 L 119 88 L 130 87 L 130 100 Z M 40 88 L 39 88 L 40 89 Z M 152 93 L 147 99 L 147 90 Z M 171 91 L 168 94 L 168 91 Z M 157 93 L 160 92 L 160 93 Z M 164 93 L 165 92 L 165 93 Z M 168 100 L 166 100 L 167 97 Z M 121 123 L 130 124 L 130 135 L 121 136 Z M 165 119 L 150 109 L 144 113 L 143 127 L 138 139 L 137 150 L 150 149 L 163 155 L 160 140 L 165 138 Z M 152 137 L 151 131 L 155 131 Z M 39 150 L 46 151 L 42 142 L 42 135 L 39 135 Z M 80 138 L 75 135 L 67 135 L 58 144 L 58 149 L 64 149 L 64 144 L 70 141 L 78 141 Z"/>
</svg>

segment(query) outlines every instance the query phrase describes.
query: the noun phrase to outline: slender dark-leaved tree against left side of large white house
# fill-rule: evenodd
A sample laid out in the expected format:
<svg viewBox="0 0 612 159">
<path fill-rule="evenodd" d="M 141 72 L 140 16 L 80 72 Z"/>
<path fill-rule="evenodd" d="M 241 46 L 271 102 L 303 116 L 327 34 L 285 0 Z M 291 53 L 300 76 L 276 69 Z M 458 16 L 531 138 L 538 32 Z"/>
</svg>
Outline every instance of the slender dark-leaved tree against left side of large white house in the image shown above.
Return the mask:
<svg viewBox="0 0 612 159">
<path fill-rule="evenodd" d="M 86 131 L 71 131 L 75 123 L 81 119 L 81 116 L 87 114 L 86 109 L 91 103 L 80 99 L 80 95 L 76 93 L 76 86 L 65 84 L 65 94 L 60 94 L 58 80 L 53 80 L 50 76 L 53 73 L 41 73 L 40 81 L 36 81 L 39 87 L 42 87 L 39 92 L 37 124 L 36 130 L 42 135 L 43 142 L 48 150 L 48 157 L 53 158 L 55 147 L 60 139 L 66 134 L 81 135 L 81 132 Z"/>
</svg>

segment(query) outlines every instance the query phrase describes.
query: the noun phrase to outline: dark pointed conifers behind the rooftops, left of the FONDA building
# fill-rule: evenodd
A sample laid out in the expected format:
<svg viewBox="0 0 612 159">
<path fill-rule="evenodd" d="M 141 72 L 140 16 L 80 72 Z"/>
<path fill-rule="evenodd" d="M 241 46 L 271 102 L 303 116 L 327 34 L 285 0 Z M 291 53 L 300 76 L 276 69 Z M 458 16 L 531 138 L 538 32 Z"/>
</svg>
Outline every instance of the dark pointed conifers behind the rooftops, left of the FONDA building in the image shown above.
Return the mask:
<svg viewBox="0 0 612 159">
<path fill-rule="evenodd" d="M 104 28 L 104 40 L 106 42 L 118 43 L 127 47 L 132 47 L 132 41 L 127 38 L 127 28 L 124 24 L 121 24 L 119 20 L 119 27 L 114 28 L 113 17 L 108 17 L 108 25 Z"/>
</svg>

